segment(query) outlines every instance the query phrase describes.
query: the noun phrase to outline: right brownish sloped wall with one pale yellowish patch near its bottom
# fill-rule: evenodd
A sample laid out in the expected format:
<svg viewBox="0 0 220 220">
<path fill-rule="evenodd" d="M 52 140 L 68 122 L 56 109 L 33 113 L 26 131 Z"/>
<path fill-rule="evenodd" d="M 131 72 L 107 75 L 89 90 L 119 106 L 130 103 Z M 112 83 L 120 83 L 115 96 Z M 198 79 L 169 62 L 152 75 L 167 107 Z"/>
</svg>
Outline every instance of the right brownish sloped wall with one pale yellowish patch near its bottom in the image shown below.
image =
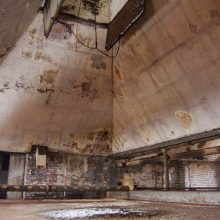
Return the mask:
<svg viewBox="0 0 220 220">
<path fill-rule="evenodd" d="M 122 40 L 114 62 L 113 151 L 220 124 L 220 2 L 166 1 Z"/>
</svg>

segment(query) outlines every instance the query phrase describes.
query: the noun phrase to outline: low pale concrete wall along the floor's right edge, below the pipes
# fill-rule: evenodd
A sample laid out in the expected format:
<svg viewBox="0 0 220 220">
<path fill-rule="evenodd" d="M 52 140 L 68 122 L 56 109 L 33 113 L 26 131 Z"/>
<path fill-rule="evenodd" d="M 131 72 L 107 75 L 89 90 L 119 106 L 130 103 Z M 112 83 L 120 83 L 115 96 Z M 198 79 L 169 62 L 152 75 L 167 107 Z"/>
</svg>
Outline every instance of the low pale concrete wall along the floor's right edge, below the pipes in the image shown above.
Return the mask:
<svg viewBox="0 0 220 220">
<path fill-rule="evenodd" d="M 219 191 L 130 191 L 108 192 L 107 196 L 117 199 L 220 205 Z"/>
</svg>

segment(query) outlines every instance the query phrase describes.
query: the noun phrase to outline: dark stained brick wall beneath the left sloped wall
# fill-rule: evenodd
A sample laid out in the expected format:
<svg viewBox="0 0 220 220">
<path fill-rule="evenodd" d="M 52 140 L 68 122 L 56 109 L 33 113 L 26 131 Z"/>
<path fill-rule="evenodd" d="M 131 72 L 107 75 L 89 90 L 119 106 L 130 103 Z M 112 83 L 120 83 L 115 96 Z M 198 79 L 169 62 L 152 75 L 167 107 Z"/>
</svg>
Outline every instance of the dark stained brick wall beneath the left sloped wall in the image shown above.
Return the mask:
<svg viewBox="0 0 220 220">
<path fill-rule="evenodd" d="M 37 169 L 35 154 L 26 155 L 25 184 L 71 185 L 106 187 L 115 186 L 114 166 L 103 156 L 81 156 L 48 153 L 47 168 Z M 45 193 L 25 193 L 25 198 L 45 196 Z"/>
</svg>

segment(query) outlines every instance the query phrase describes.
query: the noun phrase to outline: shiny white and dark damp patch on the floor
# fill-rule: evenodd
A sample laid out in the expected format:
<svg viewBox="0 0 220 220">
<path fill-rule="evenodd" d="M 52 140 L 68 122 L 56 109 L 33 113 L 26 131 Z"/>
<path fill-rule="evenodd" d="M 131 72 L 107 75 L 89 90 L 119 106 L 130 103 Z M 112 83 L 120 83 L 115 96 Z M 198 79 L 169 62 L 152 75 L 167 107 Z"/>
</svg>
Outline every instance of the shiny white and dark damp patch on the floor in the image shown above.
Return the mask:
<svg viewBox="0 0 220 220">
<path fill-rule="evenodd" d="M 44 212 L 41 215 L 49 219 L 83 219 L 99 217 L 154 217 L 161 213 L 157 211 L 122 209 L 122 208 L 82 208 Z"/>
</svg>

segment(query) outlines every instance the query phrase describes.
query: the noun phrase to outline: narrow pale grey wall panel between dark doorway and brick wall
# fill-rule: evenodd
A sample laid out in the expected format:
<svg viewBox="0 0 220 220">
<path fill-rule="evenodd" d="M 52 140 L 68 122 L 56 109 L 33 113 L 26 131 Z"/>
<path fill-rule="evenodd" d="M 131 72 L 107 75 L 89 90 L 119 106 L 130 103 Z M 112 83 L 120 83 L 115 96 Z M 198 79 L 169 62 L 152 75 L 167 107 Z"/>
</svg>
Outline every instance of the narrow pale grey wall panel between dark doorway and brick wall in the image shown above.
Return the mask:
<svg viewBox="0 0 220 220">
<path fill-rule="evenodd" d="M 24 184 L 24 166 L 25 154 L 10 154 L 8 184 L 23 185 Z M 22 192 L 8 192 L 8 199 L 22 199 Z"/>
</svg>

